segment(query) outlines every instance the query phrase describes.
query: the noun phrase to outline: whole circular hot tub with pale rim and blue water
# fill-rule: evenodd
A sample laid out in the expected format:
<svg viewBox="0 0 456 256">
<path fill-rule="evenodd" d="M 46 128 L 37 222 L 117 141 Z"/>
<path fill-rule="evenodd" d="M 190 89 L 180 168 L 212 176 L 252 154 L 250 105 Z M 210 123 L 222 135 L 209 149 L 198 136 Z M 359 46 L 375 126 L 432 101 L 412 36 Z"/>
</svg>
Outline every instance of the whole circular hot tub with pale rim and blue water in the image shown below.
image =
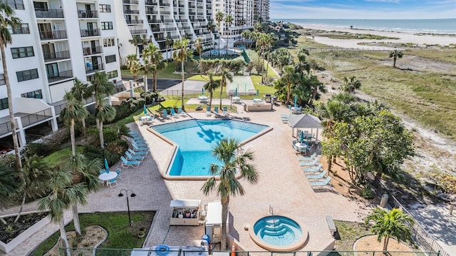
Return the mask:
<svg viewBox="0 0 456 256">
<path fill-rule="evenodd" d="M 303 247 L 309 237 L 304 226 L 291 217 L 269 215 L 250 225 L 254 242 L 270 251 L 291 251 Z"/>
</svg>

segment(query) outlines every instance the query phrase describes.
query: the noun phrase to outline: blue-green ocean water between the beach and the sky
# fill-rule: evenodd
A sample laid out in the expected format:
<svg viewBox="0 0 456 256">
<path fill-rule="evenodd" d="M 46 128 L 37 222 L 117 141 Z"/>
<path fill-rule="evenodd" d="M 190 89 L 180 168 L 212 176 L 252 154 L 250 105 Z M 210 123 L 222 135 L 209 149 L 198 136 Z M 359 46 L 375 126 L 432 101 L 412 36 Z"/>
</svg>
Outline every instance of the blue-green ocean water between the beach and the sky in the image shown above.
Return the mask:
<svg viewBox="0 0 456 256">
<path fill-rule="evenodd" d="M 414 33 L 456 34 L 456 19 L 271 19 L 300 25 L 336 28 L 410 31 Z"/>
</svg>

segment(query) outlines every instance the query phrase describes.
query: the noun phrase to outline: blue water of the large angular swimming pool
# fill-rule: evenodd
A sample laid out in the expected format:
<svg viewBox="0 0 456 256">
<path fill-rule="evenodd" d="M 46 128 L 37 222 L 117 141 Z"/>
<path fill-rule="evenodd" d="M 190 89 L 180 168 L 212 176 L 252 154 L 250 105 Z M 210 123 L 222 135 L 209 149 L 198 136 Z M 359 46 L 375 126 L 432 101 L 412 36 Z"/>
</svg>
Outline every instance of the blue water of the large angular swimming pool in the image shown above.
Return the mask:
<svg viewBox="0 0 456 256">
<path fill-rule="evenodd" d="M 237 138 L 241 142 L 268 127 L 235 120 L 192 119 L 150 128 L 179 145 L 168 175 L 206 176 L 210 175 L 212 163 L 221 164 L 212 156 L 212 148 L 222 138 Z"/>
</svg>

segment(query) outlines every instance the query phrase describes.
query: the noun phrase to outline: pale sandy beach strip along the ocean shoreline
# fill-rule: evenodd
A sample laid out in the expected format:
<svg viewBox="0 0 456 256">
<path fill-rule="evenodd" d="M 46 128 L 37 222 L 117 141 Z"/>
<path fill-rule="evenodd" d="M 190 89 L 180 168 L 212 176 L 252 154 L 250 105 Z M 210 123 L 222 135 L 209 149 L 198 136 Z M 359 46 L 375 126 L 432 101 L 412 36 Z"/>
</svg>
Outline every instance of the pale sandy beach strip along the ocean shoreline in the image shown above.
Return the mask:
<svg viewBox="0 0 456 256">
<path fill-rule="evenodd" d="M 405 32 L 405 31 L 377 31 L 371 29 L 350 29 L 350 28 L 341 28 L 336 26 L 323 26 L 323 25 L 309 25 L 309 24 L 299 24 L 305 29 L 319 29 L 325 31 L 343 31 L 349 32 L 352 34 L 374 34 L 378 36 L 389 36 L 389 37 L 398 37 L 399 39 L 385 39 L 385 40 L 375 40 L 375 39 L 330 39 L 326 36 L 314 36 L 314 40 L 318 43 L 327 44 L 329 46 L 337 46 L 342 48 L 378 48 L 378 46 L 364 46 L 359 45 L 361 42 L 393 42 L 393 43 L 415 43 L 418 45 L 423 44 L 440 44 L 440 46 L 447 46 L 450 43 L 455 43 L 456 38 L 454 36 L 418 36 L 414 32 Z M 385 47 L 382 47 L 385 48 Z"/>
</svg>

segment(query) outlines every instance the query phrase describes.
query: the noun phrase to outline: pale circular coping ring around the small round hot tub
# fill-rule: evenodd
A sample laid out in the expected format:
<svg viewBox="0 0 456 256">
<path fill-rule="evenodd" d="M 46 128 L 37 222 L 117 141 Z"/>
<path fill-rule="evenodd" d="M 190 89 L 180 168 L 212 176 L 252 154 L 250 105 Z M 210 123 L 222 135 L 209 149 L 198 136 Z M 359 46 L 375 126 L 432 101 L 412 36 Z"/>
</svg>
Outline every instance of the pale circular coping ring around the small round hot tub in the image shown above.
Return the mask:
<svg viewBox="0 0 456 256">
<path fill-rule="evenodd" d="M 306 229 L 304 223 L 301 222 L 301 220 L 296 220 L 296 218 L 284 214 L 274 216 L 288 217 L 290 220 L 293 220 L 294 222 L 298 223 L 298 225 L 301 227 L 302 235 L 301 237 L 299 237 L 299 240 L 289 245 L 271 245 L 268 242 L 264 242 L 264 240 L 262 240 L 257 236 L 257 234 L 255 234 L 254 226 L 258 220 L 260 220 L 263 217 L 271 217 L 271 214 L 258 215 L 257 217 L 254 217 L 254 219 L 250 222 L 249 236 L 259 247 L 269 250 L 271 252 L 289 252 L 299 250 L 306 246 L 307 242 L 309 241 L 309 230 Z"/>
</svg>

